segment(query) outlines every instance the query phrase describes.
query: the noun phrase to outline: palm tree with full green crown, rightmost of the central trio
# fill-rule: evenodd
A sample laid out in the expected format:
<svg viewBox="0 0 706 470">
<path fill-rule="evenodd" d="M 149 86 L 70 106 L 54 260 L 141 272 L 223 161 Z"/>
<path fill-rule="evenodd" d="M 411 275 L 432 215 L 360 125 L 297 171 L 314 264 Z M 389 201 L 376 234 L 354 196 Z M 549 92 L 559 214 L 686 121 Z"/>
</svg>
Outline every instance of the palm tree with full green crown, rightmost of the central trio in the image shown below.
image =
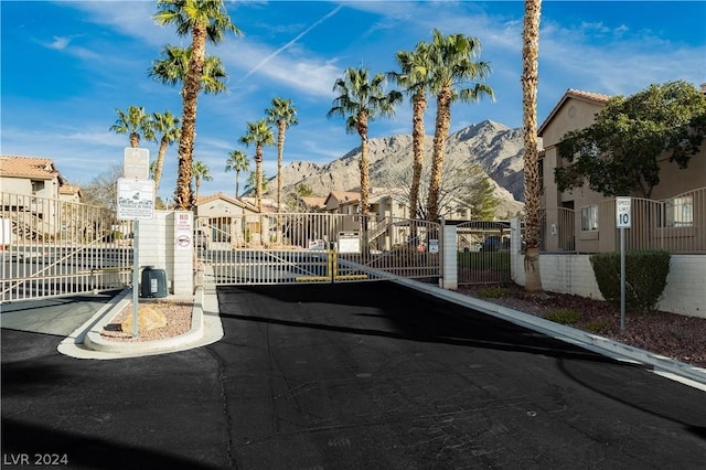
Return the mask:
<svg viewBox="0 0 706 470">
<path fill-rule="evenodd" d="M 431 181 L 427 197 L 427 220 L 438 218 L 439 189 L 446 152 L 446 139 L 451 127 L 451 104 L 454 102 L 472 103 L 484 96 L 494 97 L 493 89 L 482 83 L 464 88 L 469 82 L 485 79 L 490 74 L 490 65 L 474 62 L 480 54 L 481 42 L 478 38 L 463 34 L 445 36 L 435 29 L 429 49 L 431 56 L 431 92 L 437 97 L 437 116 L 434 129 L 434 147 L 431 156 Z"/>
</svg>

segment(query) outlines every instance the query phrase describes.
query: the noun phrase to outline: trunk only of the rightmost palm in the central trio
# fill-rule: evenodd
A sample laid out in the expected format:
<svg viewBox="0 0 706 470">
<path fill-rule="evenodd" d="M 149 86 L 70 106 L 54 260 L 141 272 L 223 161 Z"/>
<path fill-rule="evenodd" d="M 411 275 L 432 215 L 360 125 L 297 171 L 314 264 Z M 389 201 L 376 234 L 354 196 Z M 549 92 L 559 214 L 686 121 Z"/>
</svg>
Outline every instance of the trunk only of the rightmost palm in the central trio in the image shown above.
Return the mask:
<svg viewBox="0 0 706 470">
<path fill-rule="evenodd" d="M 445 88 L 437 95 L 437 119 L 434 131 L 434 151 L 431 154 L 431 175 L 429 196 L 427 197 L 427 221 L 437 222 L 439 217 L 439 191 L 446 152 L 446 138 L 451 125 L 451 89 Z"/>
</svg>

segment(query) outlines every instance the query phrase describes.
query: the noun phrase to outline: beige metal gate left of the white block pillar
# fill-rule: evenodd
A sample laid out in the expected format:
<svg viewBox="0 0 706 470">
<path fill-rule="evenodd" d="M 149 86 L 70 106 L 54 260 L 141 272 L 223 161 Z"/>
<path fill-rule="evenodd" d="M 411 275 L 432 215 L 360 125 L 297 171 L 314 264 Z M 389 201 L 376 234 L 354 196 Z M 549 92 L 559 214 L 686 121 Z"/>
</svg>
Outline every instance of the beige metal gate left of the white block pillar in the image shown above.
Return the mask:
<svg viewBox="0 0 706 470">
<path fill-rule="evenodd" d="M 0 193 L 0 302 L 130 285 L 131 236 L 115 211 Z"/>
</svg>

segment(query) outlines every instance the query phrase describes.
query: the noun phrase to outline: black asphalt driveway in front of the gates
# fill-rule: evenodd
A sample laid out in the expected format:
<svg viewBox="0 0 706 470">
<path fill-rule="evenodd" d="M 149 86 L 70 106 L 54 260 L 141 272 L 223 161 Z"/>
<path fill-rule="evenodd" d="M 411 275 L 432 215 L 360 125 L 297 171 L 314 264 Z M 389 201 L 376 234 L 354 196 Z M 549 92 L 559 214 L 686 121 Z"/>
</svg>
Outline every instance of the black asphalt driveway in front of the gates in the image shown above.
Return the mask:
<svg viewBox="0 0 706 470">
<path fill-rule="evenodd" d="M 697 469 L 706 394 L 388 282 L 220 288 L 224 338 L 116 361 L 2 330 L 3 466 Z M 11 460 L 8 460 L 11 459 Z"/>
</svg>

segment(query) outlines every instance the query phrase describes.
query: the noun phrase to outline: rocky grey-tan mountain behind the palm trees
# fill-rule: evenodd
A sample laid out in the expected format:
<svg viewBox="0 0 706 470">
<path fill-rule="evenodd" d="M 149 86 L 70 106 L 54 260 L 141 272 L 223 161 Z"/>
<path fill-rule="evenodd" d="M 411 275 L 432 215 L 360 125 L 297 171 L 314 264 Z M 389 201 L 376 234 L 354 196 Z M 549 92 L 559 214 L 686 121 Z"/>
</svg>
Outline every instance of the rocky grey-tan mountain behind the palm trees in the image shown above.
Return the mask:
<svg viewBox="0 0 706 470">
<path fill-rule="evenodd" d="M 432 137 L 425 141 L 425 167 L 431 165 Z M 516 213 L 523 207 L 524 142 L 522 129 L 484 120 L 451 133 L 447 139 L 445 168 L 460 168 L 479 163 L 495 183 L 495 194 L 502 203 L 498 215 Z M 282 194 L 297 184 L 309 186 L 314 195 L 325 196 L 331 191 L 346 191 L 360 186 L 359 160 L 361 149 L 355 148 L 327 164 L 297 161 L 282 168 Z M 391 175 L 411 174 L 411 135 L 398 135 L 368 140 L 371 185 L 395 185 Z M 400 179 L 402 177 L 398 177 Z M 400 180 L 402 181 L 402 180 Z M 399 185 L 397 183 L 396 185 Z M 277 178 L 268 184 L 277 188 Z M 268 193 L 271 197 L 272 191 Z"/>
</svg>

